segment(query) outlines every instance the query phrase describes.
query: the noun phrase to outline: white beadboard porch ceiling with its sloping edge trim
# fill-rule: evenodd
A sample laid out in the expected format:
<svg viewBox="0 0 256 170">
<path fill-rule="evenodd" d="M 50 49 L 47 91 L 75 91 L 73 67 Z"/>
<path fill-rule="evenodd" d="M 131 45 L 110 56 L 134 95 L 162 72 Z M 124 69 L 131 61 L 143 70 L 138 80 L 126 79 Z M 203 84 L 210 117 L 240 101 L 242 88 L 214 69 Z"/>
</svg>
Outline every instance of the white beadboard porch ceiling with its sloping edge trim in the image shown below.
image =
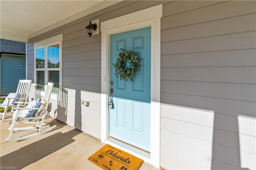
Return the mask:
<svg viewBox="0 0 256 170">
<path fill-rule="evenodd" d="M 0 0 L 0 37 L 28 38 L 101 10 L 120 0 Z"/>
</svg>

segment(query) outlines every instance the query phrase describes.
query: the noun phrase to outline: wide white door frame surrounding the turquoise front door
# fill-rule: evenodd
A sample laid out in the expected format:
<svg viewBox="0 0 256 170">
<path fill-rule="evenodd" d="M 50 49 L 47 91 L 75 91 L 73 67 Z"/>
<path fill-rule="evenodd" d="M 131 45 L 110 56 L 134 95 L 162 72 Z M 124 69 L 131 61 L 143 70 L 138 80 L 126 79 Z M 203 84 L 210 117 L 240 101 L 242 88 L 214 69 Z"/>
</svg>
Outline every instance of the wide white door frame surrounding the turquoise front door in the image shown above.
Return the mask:
<svg viewBox="0 0 256 170">
<path fill-rule="evenodd" d="M 108 94 L 110 93 L 110 35 L 151 26 L 150 158 L 118 146 L 160 168 L 160 35 L 162 4 L 100 23 L 101 38 L 101 142 L 108 141 Z M 117 146 L 117 145 L 116 145 Z"/>
</svg>

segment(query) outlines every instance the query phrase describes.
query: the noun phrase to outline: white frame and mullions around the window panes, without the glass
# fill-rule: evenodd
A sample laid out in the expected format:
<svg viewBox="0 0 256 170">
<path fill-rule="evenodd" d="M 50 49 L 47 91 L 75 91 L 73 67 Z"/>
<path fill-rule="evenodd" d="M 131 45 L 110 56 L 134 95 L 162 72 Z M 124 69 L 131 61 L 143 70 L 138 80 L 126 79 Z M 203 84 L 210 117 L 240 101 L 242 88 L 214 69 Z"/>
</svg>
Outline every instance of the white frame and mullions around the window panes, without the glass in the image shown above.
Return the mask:
<svg viewBox="0 0 256 170">
<path fill-rule="evenodd" d="M 45 40 L 42 40 L 40 42 L 34 43 L 34 83 L 35 87 L 37 86 L 37 81 L 36 81 L 36 71 L 44 71 L 44 85 L 46 86 L 48 83 L 48 71 L 59 71 L 60 74 L 60 79 L 59 79 L 59 94 L 61 94 L 62 91 L 62 40 L 63 40 L 63 34 L 60 34 L 58 36 L 54 36 Z M 48 56 L 47 56 L 47 48 L 51 45 L 56 45 L 60 44 L 60 67 L 59 68 L 48 68 Z M 36 68 L 36 49 L 43 48 L 45 49 L 45 54 L 44 54 L 44 69 L 37 69 Z M 36 89 L 35 89 L 36 90 Z M 52 93 L 51 99 L 56 99 L 59 94 Z M 44 91 L 41 91 L 41 95 L 44 95 Z"/>
</svg>

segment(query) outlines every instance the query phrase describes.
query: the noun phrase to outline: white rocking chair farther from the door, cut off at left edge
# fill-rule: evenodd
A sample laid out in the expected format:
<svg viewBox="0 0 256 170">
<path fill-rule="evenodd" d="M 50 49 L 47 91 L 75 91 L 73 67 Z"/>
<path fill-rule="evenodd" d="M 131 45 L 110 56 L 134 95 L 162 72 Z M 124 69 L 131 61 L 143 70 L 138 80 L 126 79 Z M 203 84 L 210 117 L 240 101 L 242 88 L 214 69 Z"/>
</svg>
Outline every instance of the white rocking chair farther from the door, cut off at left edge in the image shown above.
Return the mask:
<svg viewBox="0 0 256 170">
<path fill-rule="evenodd" d="M 6 113 L 8 111 L 8 107 L 12 107 L 12 110 L 10 112 L 10 115 L 12 115 L 14 111 L 14 107 L 17 106 L 16 101 L 19 102 L 26 102 L 28 101 L 28 93 L 30 91 L 30 86 L 31 86 L 32 80 L 20 80 L 18 83 L 17 91 L 16 93 L 10 93 L 7 97 L 5 98 L 4 103 L 0 104 L 0 107 L 5 108 L 3 113 L 0 113 L 2 116 L 2 121 L 6 118 Z M 24 107 L 25 104 L 20 105 L 20 107 Z M 0 121 L 0 122 L 2 122 Z"/>
</svg>

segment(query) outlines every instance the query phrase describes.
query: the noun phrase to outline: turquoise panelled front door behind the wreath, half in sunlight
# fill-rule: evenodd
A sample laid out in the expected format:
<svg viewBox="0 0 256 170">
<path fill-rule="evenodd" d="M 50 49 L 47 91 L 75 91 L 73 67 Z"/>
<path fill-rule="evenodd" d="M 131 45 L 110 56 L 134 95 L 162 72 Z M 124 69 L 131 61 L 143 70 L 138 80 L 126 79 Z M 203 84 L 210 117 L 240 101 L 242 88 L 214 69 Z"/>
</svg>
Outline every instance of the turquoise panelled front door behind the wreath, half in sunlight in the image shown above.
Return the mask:
<svg viewBox="0 0 256 170">
<path fill-rule="evenodd" d="M 134 81 L 115 75 L 112 63 L 121 48 L 138 51 L 141 69 Z M 151 27 L 110 36 L 110 81 L 114 105 L 108 113 L 110 137 L 150 152 Z"/>
</svg>

